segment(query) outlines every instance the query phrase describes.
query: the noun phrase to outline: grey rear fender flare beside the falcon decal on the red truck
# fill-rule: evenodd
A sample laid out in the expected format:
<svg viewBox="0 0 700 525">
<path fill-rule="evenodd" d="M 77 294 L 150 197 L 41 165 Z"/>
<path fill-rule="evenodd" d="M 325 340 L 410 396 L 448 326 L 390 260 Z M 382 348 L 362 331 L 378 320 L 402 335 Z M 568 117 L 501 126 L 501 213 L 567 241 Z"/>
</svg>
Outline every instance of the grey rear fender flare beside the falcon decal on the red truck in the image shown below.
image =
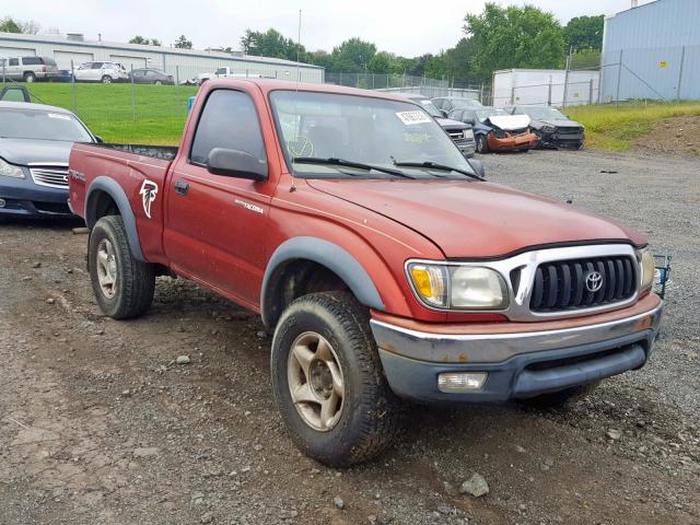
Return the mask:
<svg viewBox="0 0 700 525">
<path fill-rule="evenodd" d="M 115 213 L 115 211 L 117 211 L 117 213 Z M 85 224 L 92 230 L 102 217 L 108 214 L 121 215 L 124 226 L 127 231 L 129 248 L 131 248 L 133 257 L 140 261 L 145 261 L 139 241 L 136 215 L 131 210 L 127 195 L 115 179 L 101 175 L 96 177 L 88 188 L 85 196 Z"/>
</svg>

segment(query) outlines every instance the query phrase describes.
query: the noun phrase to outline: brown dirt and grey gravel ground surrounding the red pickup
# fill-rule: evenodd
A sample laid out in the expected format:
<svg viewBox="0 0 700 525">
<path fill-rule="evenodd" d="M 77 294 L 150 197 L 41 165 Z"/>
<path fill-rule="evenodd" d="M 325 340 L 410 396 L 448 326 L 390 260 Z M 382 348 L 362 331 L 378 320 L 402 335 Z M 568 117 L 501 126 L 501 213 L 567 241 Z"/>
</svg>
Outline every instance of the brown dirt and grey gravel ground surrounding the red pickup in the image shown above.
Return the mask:
<svg viewBox="0 0 700 525">
<path fill-rule="evenodd" d="M 5 220 L 0 524 L 700 523 L 697 159 L 546 151 L 485 163 L 491 180 L 571 197 L 674 254 L 649 366 L 564 411 L 411 407 L 387 455 L 327 469 L 284 434 L 257 318 L 163 278 L 144 318 L 113 322 L 93 301 L 86 235 Z M 474 472 L 490 487 L 479 499 L 458 490 Z"/>
</svg>

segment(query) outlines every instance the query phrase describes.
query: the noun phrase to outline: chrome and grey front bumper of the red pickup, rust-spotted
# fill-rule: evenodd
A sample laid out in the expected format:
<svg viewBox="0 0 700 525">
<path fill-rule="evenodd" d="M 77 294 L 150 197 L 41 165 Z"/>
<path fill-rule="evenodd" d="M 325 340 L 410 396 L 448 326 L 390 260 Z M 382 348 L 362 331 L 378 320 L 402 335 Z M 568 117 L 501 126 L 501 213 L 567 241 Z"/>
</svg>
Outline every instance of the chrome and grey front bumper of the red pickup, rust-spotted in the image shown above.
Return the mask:
<svg viewBox="0 0 700 525">
<path fill-rule="evenodd" d="M 632 315 L 541 331 L 427 332 L 373 318 L 372 331 L 392 389 L 423 401 L 505 401 L 592 383 L 643 366 L 658 334 L 663 302 Z M 631 306 L 626 311 L 639 311 Z M 529 325 L 532 323 L 520 323 Z M 495 331 L 495 330 L 493 330 Z M 488 373 L 478 390 L 445 393 L 442 373 Z"/>
</svg>

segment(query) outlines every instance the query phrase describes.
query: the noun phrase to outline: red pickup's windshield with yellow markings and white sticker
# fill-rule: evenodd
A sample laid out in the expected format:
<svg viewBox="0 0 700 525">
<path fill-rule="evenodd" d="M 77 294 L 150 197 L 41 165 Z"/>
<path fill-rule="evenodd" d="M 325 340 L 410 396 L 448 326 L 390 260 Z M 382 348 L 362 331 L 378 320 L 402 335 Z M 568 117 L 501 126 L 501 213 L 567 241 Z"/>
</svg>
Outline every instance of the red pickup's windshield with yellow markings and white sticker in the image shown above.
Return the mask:
<svg viewBox="0 0 700 525">
<path fill-rule="evenodd" d="M 421 107 L 399 101 L 337 93 L 275 91 L 275 119 L 290 172 L 303 177 L 358 175 L 349 163 L 382 167 L 362 176 L 386 178 L 402 164 L 413 178 L 464 178 L 431 173 L 430 164 L 474 173 L 454 142 Z M 303 162 L 293 162 L 294 159 Z M 308 162 L 310 159 L 331 162 Z M 342 164 L 334 162 L 342 160 Z M 407 165 L 416 164 L 416 165 Z"/>
</svg>

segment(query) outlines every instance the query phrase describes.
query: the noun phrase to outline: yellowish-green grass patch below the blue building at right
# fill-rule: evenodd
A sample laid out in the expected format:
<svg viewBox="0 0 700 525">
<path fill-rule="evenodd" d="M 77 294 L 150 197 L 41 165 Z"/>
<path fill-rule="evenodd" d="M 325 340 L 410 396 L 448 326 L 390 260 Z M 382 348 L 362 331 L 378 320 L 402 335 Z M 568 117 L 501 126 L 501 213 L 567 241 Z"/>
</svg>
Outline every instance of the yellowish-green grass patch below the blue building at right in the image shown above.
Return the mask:
<svg viewBox="0 0 700 525">
<path fill-rule="evenodd" d="M 700 116 L 700 103 L 641 103 L 568 107 L 567 115 L 586 127 L 586 148 L 626 151 L 634 139 L 672 117 Z"/>
</svg>

